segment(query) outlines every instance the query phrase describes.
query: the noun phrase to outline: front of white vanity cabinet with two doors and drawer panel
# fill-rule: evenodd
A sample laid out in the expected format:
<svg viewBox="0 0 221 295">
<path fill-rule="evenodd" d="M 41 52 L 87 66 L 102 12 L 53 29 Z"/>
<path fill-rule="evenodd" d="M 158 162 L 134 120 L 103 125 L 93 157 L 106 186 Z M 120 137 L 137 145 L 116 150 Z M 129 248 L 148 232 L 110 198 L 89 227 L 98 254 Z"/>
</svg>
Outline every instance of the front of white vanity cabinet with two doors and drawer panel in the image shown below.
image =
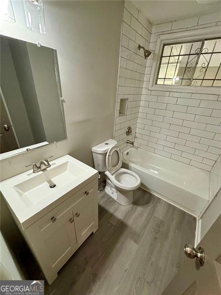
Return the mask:
<svg viewBox="0 0 221 295">
<path fill-rule="evenodd" d="M 97 229 L 98 180 L 95 179 L 23 230 L 23 234 L 51 284 L 57 271 Z"/>
</svg>

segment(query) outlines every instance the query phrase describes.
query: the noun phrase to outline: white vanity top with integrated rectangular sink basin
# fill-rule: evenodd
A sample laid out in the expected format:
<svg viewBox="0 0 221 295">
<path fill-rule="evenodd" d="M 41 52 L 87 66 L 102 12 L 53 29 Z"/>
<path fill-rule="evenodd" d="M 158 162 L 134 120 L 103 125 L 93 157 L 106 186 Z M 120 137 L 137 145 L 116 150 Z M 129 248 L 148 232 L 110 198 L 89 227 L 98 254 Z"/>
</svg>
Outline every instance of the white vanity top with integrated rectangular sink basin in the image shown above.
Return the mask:
<svg viewBox="0 0 221 295">
<path fill-rule="evenodd" d="M 88 178 L 97 177 L 96 170 L 69 155 L 50 163 L 44 172 L 33 174 L 31 170 L 0 183 L 4 199 L 23 228 L 81 189 Z"/>
</svg>

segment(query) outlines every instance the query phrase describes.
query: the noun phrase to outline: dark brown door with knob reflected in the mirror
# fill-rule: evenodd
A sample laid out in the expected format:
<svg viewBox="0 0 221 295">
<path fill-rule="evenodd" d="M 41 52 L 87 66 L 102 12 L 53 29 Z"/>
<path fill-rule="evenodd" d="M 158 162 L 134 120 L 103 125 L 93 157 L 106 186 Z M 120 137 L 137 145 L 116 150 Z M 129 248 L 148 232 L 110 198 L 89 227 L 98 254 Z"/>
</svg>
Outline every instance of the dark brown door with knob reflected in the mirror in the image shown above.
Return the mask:
<svg viewBox="0 0 221 295">
<path fill-rule="evenodd" d="M 18 145 L 13 133 L 3 99 L 0 96 L 0 153 L 17 149 Z"/>
</svg>

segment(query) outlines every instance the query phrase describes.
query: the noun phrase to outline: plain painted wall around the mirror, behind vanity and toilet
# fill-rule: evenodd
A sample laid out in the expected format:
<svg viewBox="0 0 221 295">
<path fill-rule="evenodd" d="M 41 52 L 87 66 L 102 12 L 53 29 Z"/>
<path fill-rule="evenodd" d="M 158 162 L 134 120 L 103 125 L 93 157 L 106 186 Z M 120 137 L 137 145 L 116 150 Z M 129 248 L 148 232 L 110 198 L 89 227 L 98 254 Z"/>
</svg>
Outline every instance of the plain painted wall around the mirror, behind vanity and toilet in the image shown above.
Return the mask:
<svg viewBox="0 0 221 295">
<path fill-rule="evenodd" d="M 69 153 L 93 165 L 91 147 L 113 136 L 123 1 L 44 1 L 47 33 L 26 28 L 23 1 L 13 1 L 16 23 L 0 33 L 57 50 L 67 140 L 2 160 L 1 179 L 25 164 Z"/>
</svg>

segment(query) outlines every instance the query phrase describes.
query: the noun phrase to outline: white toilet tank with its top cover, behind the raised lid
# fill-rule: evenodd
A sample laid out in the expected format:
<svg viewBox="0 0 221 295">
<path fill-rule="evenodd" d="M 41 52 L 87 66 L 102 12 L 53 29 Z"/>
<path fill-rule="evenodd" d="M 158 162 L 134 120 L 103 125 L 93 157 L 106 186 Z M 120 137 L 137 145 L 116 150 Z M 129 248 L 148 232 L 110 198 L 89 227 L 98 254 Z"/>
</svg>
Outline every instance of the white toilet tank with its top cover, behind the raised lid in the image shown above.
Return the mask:
<svg viewBox="0 0 221 295">
<path fill-rule="evenodd" d="M 94 167 L 100 172 L 107 171 L 106 155 L 110 148 L 115 146 L 117 142 L 114 139 L 106 140 L 105 142 L 91 148 L 94 159 Z"/>
</svg>

